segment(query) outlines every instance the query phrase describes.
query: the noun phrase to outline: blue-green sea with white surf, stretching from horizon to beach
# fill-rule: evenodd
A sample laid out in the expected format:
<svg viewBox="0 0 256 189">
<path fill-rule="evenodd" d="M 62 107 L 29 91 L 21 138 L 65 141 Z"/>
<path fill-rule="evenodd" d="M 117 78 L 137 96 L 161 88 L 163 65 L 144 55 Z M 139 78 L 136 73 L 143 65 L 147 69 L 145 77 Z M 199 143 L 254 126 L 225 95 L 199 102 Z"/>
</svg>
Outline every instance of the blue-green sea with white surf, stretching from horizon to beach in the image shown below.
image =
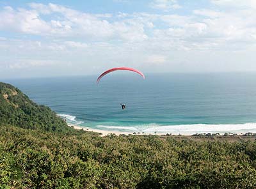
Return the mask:
<svg viewBox="0 0 256 189">
<path fill-rule="evenodd" d="M 256 73 L 145 77 L 116 72 L 99 84 L 96 75 L 3 81 L 76 125 L 147 133 L 256 132 Z"/>
</svg>

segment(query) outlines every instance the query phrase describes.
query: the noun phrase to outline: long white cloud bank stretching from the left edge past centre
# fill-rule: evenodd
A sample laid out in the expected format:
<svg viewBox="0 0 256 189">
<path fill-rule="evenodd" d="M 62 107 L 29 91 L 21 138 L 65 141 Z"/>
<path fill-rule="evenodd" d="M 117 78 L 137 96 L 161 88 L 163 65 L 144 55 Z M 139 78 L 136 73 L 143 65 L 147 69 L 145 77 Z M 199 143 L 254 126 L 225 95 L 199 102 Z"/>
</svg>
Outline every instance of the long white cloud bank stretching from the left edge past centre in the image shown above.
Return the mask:
<svg viewBox="0 0 256 189">
<path fill-rule="evenodd" d="M 0 29 L 40 36 L 86 37 L 88 40 L 143 40 L 143 24 L 109 22 L 111 14 L 89 14 L 58 4 L 29 4 L 31 10 L 6 7 L 0 11 Z M 51 15 L 51 20 L 42 15 Z"/>
</svg>

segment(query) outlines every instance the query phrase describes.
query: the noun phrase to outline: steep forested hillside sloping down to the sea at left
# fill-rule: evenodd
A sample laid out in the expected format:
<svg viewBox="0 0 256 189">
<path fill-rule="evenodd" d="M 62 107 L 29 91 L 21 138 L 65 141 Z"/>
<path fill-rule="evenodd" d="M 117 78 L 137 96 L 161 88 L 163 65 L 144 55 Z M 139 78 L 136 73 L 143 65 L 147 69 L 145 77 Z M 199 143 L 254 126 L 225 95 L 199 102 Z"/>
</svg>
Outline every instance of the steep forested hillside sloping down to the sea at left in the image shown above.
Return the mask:
<svg viewBox="0 0 256 189">
<path fill-rule="evenodd" d="M 19 89 L 0 82 L 0 125 L 47 131 L 67 130 L 68 126 L 49 107 L 37 105 Z"/>
</svg>

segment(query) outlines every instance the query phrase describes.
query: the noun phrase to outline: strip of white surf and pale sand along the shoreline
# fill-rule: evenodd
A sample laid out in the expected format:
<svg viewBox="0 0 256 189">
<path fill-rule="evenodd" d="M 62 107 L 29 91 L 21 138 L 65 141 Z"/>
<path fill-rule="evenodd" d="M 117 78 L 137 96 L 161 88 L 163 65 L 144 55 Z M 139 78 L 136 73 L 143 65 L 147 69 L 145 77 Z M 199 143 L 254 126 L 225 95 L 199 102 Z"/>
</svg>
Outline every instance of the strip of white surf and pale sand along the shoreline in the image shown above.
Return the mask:
<svg viewBox="0 0 256 189">
<path fill-rule="evenodd" d="M 79 125 L 80 121 L 76 121 L 76 116 L 68 114 L 58 114 L 65 120 L 68 126 L 72 126 L 77 130 L 100 133 L 106 136 L 109 133 L 115 135 L 167 135 L 167 136 L 255 136 L 256 123 L 226 123 L 226 124 L 205 124 L 195 123 L 190 125 L 142 125 L 141 128 L 128 126 L 105 126 L 99 125 L 90 127 L 87 125 Z M 63 118 L 64 117 L 64 118 Z M 67 119 L 76 123 L 70 123 Z M 82 122 L 83 123 L 83 122 Z"/>
</svg>

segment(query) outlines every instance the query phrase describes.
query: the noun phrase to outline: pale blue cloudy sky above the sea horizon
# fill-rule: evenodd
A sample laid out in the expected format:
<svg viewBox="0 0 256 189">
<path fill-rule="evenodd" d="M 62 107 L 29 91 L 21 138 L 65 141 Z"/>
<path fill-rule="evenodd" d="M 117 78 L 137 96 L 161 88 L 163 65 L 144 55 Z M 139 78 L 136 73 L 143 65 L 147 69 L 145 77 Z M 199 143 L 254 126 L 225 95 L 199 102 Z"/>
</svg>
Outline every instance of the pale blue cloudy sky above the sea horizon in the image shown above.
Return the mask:
<svg viewBox="0 0 256 189">
<path fill-rule="evenodd" d="M 0 0 L 0 79 L 255 72 L 255 59 L 255 0 Z"/>
</svg>

